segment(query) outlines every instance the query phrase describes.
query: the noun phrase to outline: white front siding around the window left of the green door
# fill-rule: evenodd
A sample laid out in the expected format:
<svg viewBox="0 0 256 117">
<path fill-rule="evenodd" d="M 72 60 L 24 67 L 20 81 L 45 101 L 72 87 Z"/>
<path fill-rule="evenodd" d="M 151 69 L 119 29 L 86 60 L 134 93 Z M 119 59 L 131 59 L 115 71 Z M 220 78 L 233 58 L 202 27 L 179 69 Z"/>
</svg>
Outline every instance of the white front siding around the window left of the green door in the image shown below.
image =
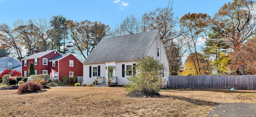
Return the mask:
<svg viewBox="0 0 256 117">
<path fill-rule="evenodd" d="M 100 66 L 100 76 L 105 76 L 106 74 L 106 64 L 105 63 L 99 63 L 99 64 L 86 64 L 84 65 L 84 71 L 83 71 L 83 82 L 84 85 L 91 83 L 93 84 L 94 79 L 96 79 L 96 77 L 90 77 L 90 73 L 89 73 L 89 67 L 90 66 Z"/>
</svg>

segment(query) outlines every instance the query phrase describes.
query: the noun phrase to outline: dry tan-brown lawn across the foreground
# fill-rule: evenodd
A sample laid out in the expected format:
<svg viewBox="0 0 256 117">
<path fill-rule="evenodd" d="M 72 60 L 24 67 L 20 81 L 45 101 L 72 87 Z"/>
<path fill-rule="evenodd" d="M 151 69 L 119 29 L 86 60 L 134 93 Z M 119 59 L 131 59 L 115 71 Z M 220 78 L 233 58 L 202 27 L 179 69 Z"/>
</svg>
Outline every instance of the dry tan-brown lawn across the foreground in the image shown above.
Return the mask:
<svg viewBox="0 0 256 117">
<path fill-rule="evenodd" d="M 217 103 L 255 103 L 256 91 L 161 89 L 160 98 L 126 97 L 122 87 L 57 87 L 31 94 L 0 90 L 4 117 L 204 117 Z"/>
</svg>

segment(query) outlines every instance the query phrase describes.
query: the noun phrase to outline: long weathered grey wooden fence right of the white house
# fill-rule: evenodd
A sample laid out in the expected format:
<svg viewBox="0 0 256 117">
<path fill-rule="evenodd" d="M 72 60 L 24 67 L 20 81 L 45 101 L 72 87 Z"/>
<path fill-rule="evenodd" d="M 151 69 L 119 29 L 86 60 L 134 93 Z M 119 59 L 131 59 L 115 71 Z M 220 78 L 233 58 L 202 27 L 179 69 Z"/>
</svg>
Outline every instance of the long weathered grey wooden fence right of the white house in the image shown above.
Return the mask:
<svg viewBox="0 0 256 117">
<path fill-rule="evenodd" d="M 193 89 L 256 90 L 256 75 L 169 76 L 168 87 Z"/>
</svg>

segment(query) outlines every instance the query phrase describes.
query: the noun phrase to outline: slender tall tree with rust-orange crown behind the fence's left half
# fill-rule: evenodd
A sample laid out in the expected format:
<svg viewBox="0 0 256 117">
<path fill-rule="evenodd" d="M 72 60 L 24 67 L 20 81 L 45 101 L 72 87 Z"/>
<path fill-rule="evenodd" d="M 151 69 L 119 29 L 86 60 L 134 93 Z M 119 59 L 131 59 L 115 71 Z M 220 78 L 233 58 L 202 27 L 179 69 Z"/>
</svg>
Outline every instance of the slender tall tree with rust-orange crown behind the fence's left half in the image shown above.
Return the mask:
<svg viewBox="0 0 256 117">
<path fill-rule="evenodd" d="M 180 19 L 181 28 L 187 32 L 187 35 L 185 35 L 184 37 L 187 39 L 190 55 L 195 56 L 192 58 L 192 60 L 197 75 L 201 74 L 201 67 L 199 64 L 197 51 L 197 43 L 200 38 L 203 38 L 203 36 L 207 36 L 206 31 L 209 22 L 210 16 L 202 13 L 188 13 L 182 16 L 182 18 Z M 196 69 L 196 66 L 198 66 L 198 69 Z"/>
</svg>

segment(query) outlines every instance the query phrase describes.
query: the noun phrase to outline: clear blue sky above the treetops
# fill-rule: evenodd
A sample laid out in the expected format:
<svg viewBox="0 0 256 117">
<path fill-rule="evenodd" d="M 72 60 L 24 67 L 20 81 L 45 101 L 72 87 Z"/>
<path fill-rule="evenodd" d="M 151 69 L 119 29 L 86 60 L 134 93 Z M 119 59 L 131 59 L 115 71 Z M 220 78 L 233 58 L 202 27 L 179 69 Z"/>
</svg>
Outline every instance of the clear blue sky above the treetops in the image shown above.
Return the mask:
<svg viewBox="0 0 256 117">
<path fill-rule="evenodd" d="M 179 18 L 188 12 L 213 16 L 225 2 L 232 0 L 171 0 L 170 6 L 172 4 Z M 61 14 L 76 22 L 102 22 L 113 29 L 130 14 L 141 18 L 145 12 L 167 6 L 168 0 L 0 0 L 0 24 L 6 23 L 12 27 L 18 19 L 50 20 L 52 16 Z"/>
</svg>

